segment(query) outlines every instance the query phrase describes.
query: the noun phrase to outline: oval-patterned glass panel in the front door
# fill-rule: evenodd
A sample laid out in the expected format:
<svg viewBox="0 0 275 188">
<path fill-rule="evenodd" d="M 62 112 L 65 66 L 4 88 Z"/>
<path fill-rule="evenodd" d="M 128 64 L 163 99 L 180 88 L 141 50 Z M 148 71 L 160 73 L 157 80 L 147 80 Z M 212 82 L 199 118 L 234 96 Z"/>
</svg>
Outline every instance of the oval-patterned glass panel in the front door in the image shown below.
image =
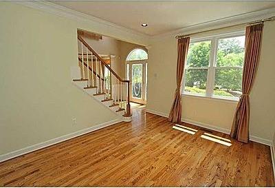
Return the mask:
<svg viewBox="0 0 275 188">
<path fill-rule="evenodd" d="M 132 65 L 132 96 L 142 99 L 142 64 Z"/>
</svg>

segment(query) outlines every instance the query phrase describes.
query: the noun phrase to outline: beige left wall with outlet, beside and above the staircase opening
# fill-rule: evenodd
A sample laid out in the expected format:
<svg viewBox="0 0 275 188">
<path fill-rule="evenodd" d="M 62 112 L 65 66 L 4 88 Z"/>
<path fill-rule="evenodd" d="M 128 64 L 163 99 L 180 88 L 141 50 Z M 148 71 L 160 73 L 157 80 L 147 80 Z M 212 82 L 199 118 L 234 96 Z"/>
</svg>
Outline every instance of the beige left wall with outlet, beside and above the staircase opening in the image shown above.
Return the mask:
<svg viewBox="0 0 275 188">
<path fill-rule="evenodd" d="M 143 39 L 16 3 L 0 2 L 0 23 L 0 155 L 117 118 L 72 85 L 76 30 Z"/>
</svg>

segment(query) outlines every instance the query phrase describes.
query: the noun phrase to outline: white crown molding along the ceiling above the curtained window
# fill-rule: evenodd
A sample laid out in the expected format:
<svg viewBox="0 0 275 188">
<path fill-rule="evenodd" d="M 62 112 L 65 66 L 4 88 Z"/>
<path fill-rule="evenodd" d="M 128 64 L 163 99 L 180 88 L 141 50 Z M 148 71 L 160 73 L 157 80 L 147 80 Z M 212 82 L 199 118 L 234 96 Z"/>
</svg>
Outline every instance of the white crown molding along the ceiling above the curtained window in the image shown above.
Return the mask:
<svg viewBox="0 0 275 188">
<path fill-rule="evenodd" d="M 235 15 L 232 17 L 225 17 L 223 19 L 216 19 L 214 21 L 207 21 L 204 23 L 198 23 L 195 25 L 190 25 L 185 28 L 180 28 L 178 30 L 172 30 L 170 32 L 165 32 L 164 34 L 157 34 L 152 36 L 151 39 L 153 41 L 159 41 L 160 39 L 164 39 L 166 37 L 175 37 L 178 34 L 188 34 L 188 32 L 200 32 L 203 30 L 211 30 L 221 27 L 227 27 L 230 25 L 236 25 L 239 23 L 248 23 L 251 21 L 265 19 L 267 17 L 274 17 L 275 8 L 269 8 L 265 10 L 259 10 L 254 12 L 247 12 L 244 14 Z"/>
</svg>

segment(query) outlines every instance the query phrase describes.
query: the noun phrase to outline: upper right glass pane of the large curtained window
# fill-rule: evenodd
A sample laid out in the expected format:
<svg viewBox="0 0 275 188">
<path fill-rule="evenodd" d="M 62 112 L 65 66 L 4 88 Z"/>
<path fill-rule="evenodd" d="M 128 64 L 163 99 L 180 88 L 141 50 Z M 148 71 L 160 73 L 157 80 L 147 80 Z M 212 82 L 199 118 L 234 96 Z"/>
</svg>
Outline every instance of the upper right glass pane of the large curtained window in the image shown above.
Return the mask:
<svg viewBox="0 0 275 188">
<path fill-rule="evenodd" d="M 219 39 L 217 67 L 242 67 L 245 55 L 245 36 Z"/>
</svg>

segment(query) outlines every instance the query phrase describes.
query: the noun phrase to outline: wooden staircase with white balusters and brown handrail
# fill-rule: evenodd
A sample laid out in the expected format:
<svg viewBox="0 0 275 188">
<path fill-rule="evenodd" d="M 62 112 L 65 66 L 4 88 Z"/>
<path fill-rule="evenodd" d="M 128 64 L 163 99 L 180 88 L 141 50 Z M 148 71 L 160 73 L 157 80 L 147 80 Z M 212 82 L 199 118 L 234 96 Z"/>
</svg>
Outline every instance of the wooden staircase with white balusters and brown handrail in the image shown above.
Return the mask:
<svg viewBox="0 0 275 188">
<path fill-rule="evenodd" d="M 123 121 L 131 121 L 130 81 L 122 80 L 85 40 L 78 36 L 78 78 L 73 83 Z"/>
</svg>

